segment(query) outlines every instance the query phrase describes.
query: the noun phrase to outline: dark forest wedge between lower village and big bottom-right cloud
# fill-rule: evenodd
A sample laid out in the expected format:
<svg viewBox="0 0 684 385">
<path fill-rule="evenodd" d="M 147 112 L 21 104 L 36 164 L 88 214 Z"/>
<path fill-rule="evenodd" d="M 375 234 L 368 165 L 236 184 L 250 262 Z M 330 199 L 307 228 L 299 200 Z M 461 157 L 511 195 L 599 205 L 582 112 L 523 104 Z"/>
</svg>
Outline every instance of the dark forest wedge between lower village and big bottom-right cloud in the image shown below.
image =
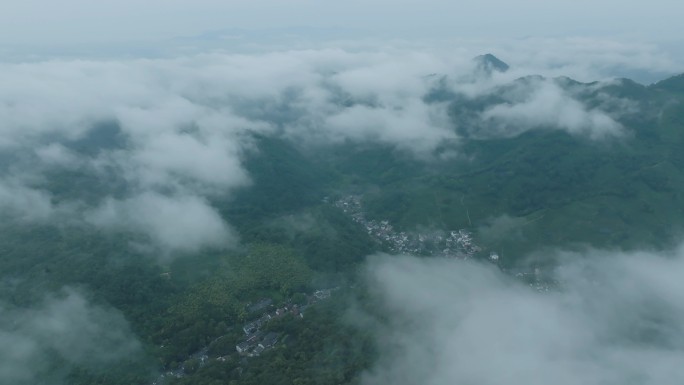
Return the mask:
<svg viewBox="0 0 684 385">
<path fill-rule="evenodd" d="M 281 341 L 268 353 L 240 362 L 236 355 L 213 361 L 194 375 L 170 381 L 175 385 L 200 384 L 345 384 L 357 383 L 359 373 L 375 356 L 368 333 L 341 323 L 337 317 L 346 303 L 331 301 L 312 308 L 302 320 L 293 316 L 274 321 L 269 330 Z M 225 352 L 233 353 L 234 345 Z"/>
</svg>

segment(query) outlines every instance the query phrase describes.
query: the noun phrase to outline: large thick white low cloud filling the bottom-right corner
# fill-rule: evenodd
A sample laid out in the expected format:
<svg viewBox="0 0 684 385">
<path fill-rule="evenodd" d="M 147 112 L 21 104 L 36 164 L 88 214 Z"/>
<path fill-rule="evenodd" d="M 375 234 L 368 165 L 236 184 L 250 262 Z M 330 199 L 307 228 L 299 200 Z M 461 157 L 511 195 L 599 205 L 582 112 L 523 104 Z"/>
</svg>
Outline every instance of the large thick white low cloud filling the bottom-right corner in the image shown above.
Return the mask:
<svg viewBox="0 0 684 385">
<path fill-rule="evenodd" d="M 362 383 L 684 380 L 683 250 L 557 257 L 546 290 L 475 262 L 372 258 L 380 360 Z"/>
</svg>

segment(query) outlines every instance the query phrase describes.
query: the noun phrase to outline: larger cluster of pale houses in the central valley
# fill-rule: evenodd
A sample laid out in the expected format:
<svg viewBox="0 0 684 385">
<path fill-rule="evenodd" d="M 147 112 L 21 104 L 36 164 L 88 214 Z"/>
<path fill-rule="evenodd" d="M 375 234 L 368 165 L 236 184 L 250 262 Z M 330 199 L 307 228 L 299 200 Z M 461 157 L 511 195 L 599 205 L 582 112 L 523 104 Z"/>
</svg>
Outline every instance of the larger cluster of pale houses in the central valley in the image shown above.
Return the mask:
<svg viewBox="0 0 684 385">
<path fill-rule="evenodd" d="M 325 201 L 328 202 L 329 199 Z M 481 251 L 473 241 L 472 234 L 465 229 L 451 231 L 446 236 L 442 232 L 408 234 L 396 232 L 389 221 L 368 220 L 358 195 L 342 197 L 333 205 L 349 215 L 354 222 L 361 224 L 368 235 L 385 243 L 395 253 L 468 259 Z"/>
</svg>

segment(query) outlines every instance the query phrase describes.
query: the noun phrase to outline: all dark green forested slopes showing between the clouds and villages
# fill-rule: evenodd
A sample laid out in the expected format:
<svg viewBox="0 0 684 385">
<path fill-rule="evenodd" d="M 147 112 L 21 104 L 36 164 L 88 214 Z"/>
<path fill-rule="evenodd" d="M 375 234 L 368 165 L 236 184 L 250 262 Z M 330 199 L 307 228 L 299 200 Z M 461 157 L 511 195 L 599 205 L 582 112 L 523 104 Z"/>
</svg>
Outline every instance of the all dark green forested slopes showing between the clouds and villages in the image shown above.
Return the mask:
<svg viewBox="0 0 684 385">
<path fill-rule="evenodd" d="M 439 87 L 426 100 L 448 105 L 464 138 L 439 149 L 442 157 L 418 159 L 368 143 L 312 149 L 256 136 L 258 151 L 245 160 L 253 185 L 211 202 L 240 234 L 239 249 L 159 263 L 131 247 L 144 239 L 125 231 L 4 223 L 0 302 L 27 308 L 66 286 L 125 316 L 142 348 L 123 361 L 103 367 L 46 358 L 46 376 L 65 371 L 70 384 L 149 384 L 181 366 L 187 376 L 169 383 L 353 384 L 376 347 L 368 331 L 345 321 L 348 301 L 359 294 L 349 287 L 364 257 L 385 246 L 325 197 L 362 195 L 368 218 L 398 230 L 468 228 L 509 265 L 542 247 L 665 248 L 684 224 L 683 79 L 649 87 L 557 80 L 586 105 L 616 113 L 626 129 L 618 138 L 592 140 L 552 127 L 479 135 L 475 116 L 505 99 L 493 93 L 466 100 Z M 634 108 L 620 112 L 605 104 L 606 95 Z M 125 146 L 107 127 L 70 145 L 86 154 Z M 44 187 L 56 200 L 85 202 L 128 188 L 114 176 L 78 170 L 49 174 Z M 303 319 L 288 315 L 268 324 L 280 336 L 272 351 L 249 359 L 236 354 L 242 325 L 256 316 L 250 303 L 301 302 L 335 286 L 343 290 Z M 210 361 L 201 365 L 193 355 L 204 348 Z"/>
</svg>

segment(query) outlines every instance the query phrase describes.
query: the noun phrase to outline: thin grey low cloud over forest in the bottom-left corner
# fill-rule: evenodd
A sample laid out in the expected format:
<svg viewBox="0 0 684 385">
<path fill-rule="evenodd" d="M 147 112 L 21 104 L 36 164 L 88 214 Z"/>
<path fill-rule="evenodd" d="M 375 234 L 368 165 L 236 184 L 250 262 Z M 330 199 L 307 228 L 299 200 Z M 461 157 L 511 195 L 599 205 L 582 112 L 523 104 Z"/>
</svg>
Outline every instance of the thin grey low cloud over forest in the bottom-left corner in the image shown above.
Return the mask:
<svg viewBox="0 0 684 385">
<path fill-rule="evenodd" d="M 115 310 L 67 289 L 29 309 L 0 304 L 0 382 L 62 383 L 69 367 L 103 365 L 140 351 Z"/>
</svg>

